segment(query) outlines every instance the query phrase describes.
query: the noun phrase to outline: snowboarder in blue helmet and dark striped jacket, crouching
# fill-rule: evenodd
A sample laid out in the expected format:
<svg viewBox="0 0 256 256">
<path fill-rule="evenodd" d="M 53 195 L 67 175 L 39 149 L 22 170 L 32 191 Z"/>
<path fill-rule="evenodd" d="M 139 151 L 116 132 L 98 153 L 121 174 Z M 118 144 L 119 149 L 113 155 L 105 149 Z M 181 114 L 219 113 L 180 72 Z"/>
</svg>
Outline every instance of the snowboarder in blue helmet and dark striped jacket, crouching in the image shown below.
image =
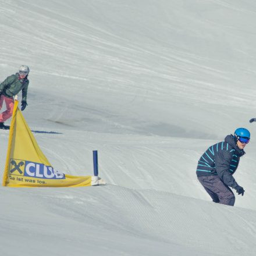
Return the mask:
<svg viewBox="0 0 256 256">
<path fill-rule="evenodd" d="M 211 145 L 199 159 L 197 178 L 212 201 L 233 206 L 235 197 L 230 187 L 239 195 L 244 195 L 243 187 L 237 184 L 233 174 L 240 157 L 246 154 L 244 147 L 249 143 L 250 137 L 250 131 L 238 128 L 234 135 L 227 135 L 225 141 Z"/>
</svg>

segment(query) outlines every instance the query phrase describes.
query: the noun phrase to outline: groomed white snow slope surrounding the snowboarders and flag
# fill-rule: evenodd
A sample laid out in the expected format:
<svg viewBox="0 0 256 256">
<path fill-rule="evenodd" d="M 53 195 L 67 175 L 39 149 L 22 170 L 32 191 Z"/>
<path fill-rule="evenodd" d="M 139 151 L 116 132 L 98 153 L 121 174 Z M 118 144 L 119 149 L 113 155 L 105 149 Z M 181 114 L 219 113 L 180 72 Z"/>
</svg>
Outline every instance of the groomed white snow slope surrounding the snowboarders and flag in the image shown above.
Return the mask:
<svg viewBox="0 0 256 256">
<path fill-rule="evenodd" d="M 98 150 L 108 183 L 0 187 L 2 255 L 255 254 L 253 0 L 0 3 L 0 81 L 29 65 L 23 115 L 49 162 L 90 175 Z M 197 161 L 240 126 L 246 193 L 214 204 Z"/>
</svg>

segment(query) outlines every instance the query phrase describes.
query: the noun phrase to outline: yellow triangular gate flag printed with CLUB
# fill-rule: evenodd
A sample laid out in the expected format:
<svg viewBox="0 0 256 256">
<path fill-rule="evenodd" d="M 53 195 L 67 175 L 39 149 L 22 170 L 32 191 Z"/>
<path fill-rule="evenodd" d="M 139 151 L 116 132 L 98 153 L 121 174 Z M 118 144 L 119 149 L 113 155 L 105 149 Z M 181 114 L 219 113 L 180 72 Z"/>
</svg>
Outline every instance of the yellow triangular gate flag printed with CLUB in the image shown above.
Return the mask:
<svg viewBox="0 0 256 256">
<path fill-rule="evenodd" d="M 55 170 L 38 147 L 15 101 L 10 123 L 3 186 L 79 187 L 93 185 L 92 176 L 72 176 Z M 93 178 L 95 178 L 93 176 Z"/>
</svg>

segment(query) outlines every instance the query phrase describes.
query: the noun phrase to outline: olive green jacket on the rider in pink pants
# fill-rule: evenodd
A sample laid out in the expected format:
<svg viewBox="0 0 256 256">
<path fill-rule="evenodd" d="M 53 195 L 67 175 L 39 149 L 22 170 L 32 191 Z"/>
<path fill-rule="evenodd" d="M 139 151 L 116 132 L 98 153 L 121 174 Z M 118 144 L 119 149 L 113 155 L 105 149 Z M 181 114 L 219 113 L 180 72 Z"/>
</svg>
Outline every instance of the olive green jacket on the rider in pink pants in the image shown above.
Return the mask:
<svg viewBox="0 0 256 256">
<path fill-rule="evenodd" d="M 28 79 L 18 79 L 19 73 L 8 76 L 0 84 L 0 94 L 6 97 L 13 97 L 22 90 L 22 101 L 27 101 L 27 87 L 29 86 Z"/>
</svg>

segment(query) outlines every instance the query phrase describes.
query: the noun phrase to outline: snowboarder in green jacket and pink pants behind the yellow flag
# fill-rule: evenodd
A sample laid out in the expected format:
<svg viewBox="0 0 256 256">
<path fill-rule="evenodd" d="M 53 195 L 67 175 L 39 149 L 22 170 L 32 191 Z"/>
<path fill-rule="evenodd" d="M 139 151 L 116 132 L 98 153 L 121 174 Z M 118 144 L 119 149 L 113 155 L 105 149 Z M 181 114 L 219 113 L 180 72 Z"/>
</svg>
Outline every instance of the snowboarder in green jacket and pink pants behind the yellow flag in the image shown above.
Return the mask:
<svg viewBox="0 0 256 256">
<path fill-rule="evenodd" d="M 0 113 L 0 129 L 9 129 L 5 126 L 4 122 L 12 116 L 14 100 L 13 97 L 22 91 L 22 108 L 23 111 L 27 106 L 27 88 L 29 86 L 29 80 L 27 76 L 29 75 L 29 67 L 22 65 L 19 68 L 19 73 L 12 74 L 8 76 L 0 84 L 0 110 L 3 106 L 3 101 L 5 101 L 6 111 Z"/>
</svg>

